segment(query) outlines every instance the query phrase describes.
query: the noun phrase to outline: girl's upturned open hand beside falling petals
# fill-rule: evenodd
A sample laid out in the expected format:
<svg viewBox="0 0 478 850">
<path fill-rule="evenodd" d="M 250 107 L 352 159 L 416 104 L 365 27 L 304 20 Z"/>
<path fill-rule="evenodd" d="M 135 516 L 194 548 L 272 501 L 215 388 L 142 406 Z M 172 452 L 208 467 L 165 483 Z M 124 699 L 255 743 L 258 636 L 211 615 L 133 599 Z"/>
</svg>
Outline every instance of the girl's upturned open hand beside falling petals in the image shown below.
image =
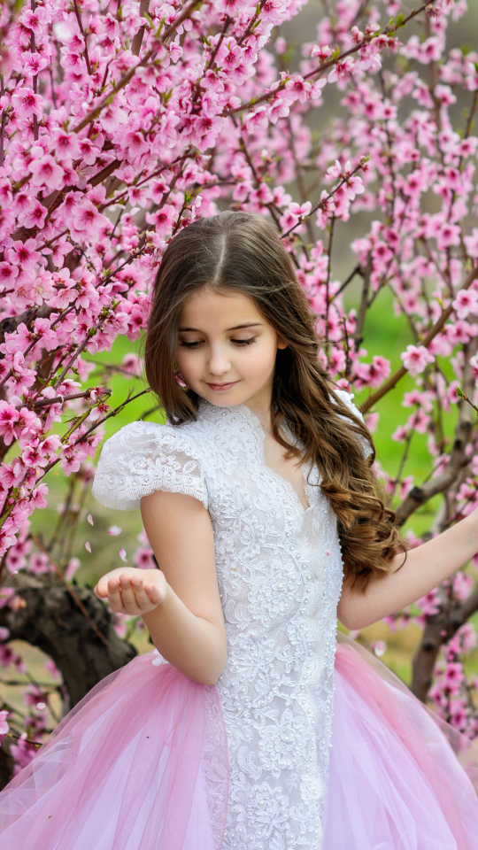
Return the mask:
<svg viewBox="0 0 478 850">
<path fill-rule="evenodd" d="M 159 569 L 112 569 L 96 584 L 98 599 L 108 599 L 115 614 L 143 615 L 166 599 L 168 584 Z"/>
</svg>

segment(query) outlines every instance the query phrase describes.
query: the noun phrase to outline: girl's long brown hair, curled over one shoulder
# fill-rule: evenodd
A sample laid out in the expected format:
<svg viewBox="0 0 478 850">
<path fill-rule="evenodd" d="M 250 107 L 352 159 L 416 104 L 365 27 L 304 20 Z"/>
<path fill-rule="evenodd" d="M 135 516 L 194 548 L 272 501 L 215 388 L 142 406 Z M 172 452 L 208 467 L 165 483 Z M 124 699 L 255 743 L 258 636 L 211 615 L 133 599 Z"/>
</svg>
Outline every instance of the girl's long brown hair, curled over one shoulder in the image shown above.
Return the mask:
<svg viewBox="0 0 478 850">
<path fill-rule="evenodd" d="M 252 213 L 220 213 L 192 222 L 166 248 L 154 286 L 145 346 L 146 375 L 173 424 L 194 420 L 200 401 L 176 380 L 175 353 L 182 305 L 201 287 L 252 298 L 288 344 L 277 352 L 271 407 L 274 437 L 289 456 L 316 463 L 320 490 L 335 511 L 345 575 L 365 590 L 389 572 L 403 547 L 372 470 L 374 444 L 365 425 L 336 395 L 318 359 L 319 338 L 305 293 L 274 227 Z M 341 417 L 345 417 L 342 419 Z M 297 444 L 281 435 L 285 422 Z M 372 453 L 364 457 L 360 437 Z"/>
</svg>

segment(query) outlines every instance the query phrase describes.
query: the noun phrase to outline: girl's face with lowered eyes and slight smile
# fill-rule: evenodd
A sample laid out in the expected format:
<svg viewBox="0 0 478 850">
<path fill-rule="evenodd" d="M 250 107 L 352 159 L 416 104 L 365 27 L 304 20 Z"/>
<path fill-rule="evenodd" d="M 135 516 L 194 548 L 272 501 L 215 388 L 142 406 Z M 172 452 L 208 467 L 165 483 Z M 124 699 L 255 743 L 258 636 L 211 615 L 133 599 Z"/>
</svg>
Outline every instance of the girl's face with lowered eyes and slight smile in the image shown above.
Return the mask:
<svg viewBox="0 0 478 850">
<path fill-rule="evenodd" d="M 198 290 L 182 307 L 176 365 L 184 382 L 212 405 L 271 404 L 275 357 L 287 344 L 251 298 Z"/>
</svg>

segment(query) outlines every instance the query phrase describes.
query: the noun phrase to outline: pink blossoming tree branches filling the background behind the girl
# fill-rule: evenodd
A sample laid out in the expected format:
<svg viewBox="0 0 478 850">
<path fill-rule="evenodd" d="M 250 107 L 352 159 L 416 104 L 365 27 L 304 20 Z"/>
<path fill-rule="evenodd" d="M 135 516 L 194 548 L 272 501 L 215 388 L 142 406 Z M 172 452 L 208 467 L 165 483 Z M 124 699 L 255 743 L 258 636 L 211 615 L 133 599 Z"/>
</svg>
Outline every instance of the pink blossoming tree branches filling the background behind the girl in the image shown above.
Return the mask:
<svg viewBox="0 0 478 850">
<path fill-rule="evenodd" d="M 291 71 L 284 25 L 304 5 L 2 7 L 0 661 L 25 672 L 9 642 L 38 645 L 63 676 L 66 707 L 135 651 L 108 609 L 72 584 L 63 531 L 45 542 L 28 518 L 47 505 L 59 464 L 70 482 L 65 530 L 73 489 L 81 502 L 91 483 L 104 421 L 148 392 L 125 392 L 112 408 L 109 373 L 96 386 L 89 373 L 118 336 L 141 335 L 166 243 L 195 217 L 230 206 L 274 220 L 317 314 L 320 357 L 359 393 L 371 429 L 397 388 L 397 419 L 400 398 L 410 411 L 394 432 L 402 460 L 394 477 L 378 472 L 401 520 L 440 495 L 434 535 L 478 500 L 478 55 L 447 46 L 465 0 L 418 0 L 412 11 L 401 0 L 335 0 Z M 332 96 L 342 117 L 318 132 L 315 115 Z M 355 260 L 338 279 L 334 249 L 354 213 Z M 352 282 L 357 309 L 344 300 Z M 390 294 L 412 339 L 393 372 L 364 347 L 366 316 Z M 121 366 L 137 368 L 135 356 Z M 405 375 L 413 389 L 403 392 Z M 428 435 L 423 482 L 405 477 L 415 433 Z M 136 562 L 150 560 L 143 540 Z M 460 572 L 419 605 L 390 620 L 423 628 L 412 690 L 475 735 L 475 686 L 463 668 L 475 642 L 473 576 Z M 27 713 L 1 707 L 0 737 L 13 736 L 2 781 L 42 741 L 48 699 L 33 682 Z"/>
</svg>

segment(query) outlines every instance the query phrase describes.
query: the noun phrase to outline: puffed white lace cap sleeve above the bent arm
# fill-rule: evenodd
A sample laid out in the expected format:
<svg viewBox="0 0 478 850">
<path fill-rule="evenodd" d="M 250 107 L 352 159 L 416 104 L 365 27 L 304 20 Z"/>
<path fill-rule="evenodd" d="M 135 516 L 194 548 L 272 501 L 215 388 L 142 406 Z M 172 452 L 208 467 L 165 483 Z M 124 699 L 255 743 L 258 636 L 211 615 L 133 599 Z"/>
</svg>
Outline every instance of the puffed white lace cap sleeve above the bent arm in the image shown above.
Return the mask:
<svg viewBox="0 0 478 850">
<path fill-rule="evenodd" d="M 93 496 L 106 507 L 133 511 L 142 496 L 156 490 L 194 496 L 207 509 L 206 485 L 193 440 L 172 426 L 131 422 L 106 440 Z"/>
</svg>

